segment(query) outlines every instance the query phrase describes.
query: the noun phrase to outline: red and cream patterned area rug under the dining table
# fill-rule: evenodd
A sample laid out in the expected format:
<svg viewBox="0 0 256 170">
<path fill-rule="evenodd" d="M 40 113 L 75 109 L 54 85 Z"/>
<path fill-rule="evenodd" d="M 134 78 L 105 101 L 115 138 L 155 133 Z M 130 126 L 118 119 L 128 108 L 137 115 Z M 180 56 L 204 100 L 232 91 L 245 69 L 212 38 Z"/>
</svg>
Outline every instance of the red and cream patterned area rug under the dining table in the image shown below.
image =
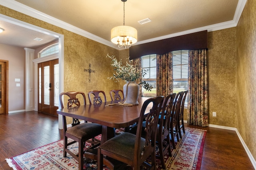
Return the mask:
<svg viewBox="0 0 256 170">
<path fill-rule="evenodd" d="M 186 133 L 183 134 L 180 142 L 176 143 L 176 149 L 172 149 L 172 157 L 169 157 L 168 153 L 164 156 L 167 170 L 200 170 L 206 131 L 193 128 L 185 128 L 185 130 Z M 84 150 L 88 147 L 90 145 L 86 143 Z M 76 151 L 78 145 L 73 144 L 70 149 Z M 8 158 L 6 161 L 14 170 L 78 169 L 78 162 L 69 154 L 66 158 L 63 157 L 63 140 Z M 96 161 L 85 159 L 84 170 L 96 169 Z M 129 170 L 130 168 L 126 166 L 124 169 Z M 105 166 L 104 170 L 108 170 L 108 167 Z M 146 168 L 141 167 L 141 170 L 146 170 Z M 157 160 L 157 170 L 161 170 L 160 160 Z"/>
</svg>

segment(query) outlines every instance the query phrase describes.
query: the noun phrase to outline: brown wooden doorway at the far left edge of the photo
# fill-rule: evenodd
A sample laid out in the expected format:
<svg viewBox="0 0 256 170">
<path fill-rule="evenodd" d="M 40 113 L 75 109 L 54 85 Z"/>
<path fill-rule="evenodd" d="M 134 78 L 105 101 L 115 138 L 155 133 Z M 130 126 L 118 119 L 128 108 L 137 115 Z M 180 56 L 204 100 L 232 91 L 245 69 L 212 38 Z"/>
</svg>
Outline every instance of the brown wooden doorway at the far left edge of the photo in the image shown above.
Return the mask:
<svg viewBox="0 0 256 170">
<path fill-rule="evenodd" d="M 8 61 L 0 60 L 0 114 L 8 113 L 7 72 Z"/>
</svg>

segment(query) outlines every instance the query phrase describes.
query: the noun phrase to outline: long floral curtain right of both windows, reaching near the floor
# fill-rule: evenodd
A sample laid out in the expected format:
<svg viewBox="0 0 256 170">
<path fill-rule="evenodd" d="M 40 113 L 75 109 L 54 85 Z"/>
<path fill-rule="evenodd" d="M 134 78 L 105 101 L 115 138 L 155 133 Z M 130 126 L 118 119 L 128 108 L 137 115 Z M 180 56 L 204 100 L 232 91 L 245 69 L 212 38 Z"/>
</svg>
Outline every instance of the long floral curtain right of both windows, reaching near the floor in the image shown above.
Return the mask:
<svg viewBox="0 0 256 170">
<path fill-rule="evenodd" d="M 188 57 L 188 124 L 208 126 L 206 49 L 190 50 Z"/>
</svg>

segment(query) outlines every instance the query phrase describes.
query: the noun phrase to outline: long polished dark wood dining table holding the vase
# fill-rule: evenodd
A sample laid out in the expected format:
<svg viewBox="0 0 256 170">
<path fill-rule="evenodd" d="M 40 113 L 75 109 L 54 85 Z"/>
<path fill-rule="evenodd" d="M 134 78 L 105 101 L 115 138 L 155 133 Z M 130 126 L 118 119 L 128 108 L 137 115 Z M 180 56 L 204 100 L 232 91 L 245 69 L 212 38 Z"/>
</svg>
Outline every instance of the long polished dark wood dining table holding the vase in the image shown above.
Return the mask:
<svg viewBox="0 0 256 170">
<path fill-rule="evenodd" d="M 146 97 L 139 97 L 138 104 L 132 106 L 118 104 L 118 102 L 122 101 L 111 101 L 57 109 L 57 113 L 102 125 L 102 144 L 115 136 L 115 128 L 129 127 L 138 122 L 142 105 L 147 99 Z M 146 109 L 145 117 L 150 108 L 149 105 Z"/>
</svg>

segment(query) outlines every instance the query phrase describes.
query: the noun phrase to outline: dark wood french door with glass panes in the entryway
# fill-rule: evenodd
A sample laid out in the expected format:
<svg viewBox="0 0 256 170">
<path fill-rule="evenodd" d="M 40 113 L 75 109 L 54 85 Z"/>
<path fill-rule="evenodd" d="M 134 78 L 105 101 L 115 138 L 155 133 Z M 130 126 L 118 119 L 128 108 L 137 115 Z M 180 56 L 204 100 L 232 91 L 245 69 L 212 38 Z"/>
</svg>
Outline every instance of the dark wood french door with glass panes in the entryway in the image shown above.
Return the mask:
<svg viewBox="0 0 256 170">
<path fill-rule="evenodd" d="M 58 115 L 58 59 L 38 63 L 38 111 Z"/>
</svg>

